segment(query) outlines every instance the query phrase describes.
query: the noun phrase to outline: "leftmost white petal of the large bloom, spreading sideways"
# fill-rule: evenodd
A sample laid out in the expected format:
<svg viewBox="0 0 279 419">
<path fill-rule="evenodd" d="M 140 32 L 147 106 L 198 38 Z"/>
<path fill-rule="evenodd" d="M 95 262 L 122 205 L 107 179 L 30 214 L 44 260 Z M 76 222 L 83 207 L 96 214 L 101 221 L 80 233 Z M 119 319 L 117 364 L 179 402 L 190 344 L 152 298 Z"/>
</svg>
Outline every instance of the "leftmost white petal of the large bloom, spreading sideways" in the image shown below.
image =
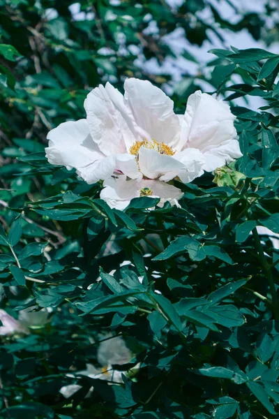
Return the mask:
<svg viewBox="0 0 279 419">
<path fill-rule="evenodd" d="M 63 122 L 48 135 L 49 147 L 45 149 L 50 164 L 72 168 L 82 168 L 103 154 L 93 142 L 86 119 Z"/>
</svg>

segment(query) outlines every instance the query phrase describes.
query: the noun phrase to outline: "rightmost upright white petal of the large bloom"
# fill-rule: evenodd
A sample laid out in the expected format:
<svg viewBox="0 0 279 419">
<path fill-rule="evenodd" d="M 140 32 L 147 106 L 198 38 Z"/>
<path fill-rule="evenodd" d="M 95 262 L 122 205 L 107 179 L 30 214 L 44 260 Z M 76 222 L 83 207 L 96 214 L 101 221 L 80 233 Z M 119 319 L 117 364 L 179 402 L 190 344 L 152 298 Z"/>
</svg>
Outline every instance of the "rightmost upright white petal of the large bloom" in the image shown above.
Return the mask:
<svg viewBox="0 0 279 419">
<path fill-rule="evenodd" d="M 189 96 L 181 121 L 180 145 L 210 154 L 210 164 L 205 164 L 204 170 L 209 170 L 209 167 L 210 171 L 215 170 L 242 155 L 236 146 L 235 118 L 227 103 L 196 91 Z M 212 156 L 217 156 L 216 163 Z M 219 158 L 223 161 L 221 165 Z"/>
</svg>

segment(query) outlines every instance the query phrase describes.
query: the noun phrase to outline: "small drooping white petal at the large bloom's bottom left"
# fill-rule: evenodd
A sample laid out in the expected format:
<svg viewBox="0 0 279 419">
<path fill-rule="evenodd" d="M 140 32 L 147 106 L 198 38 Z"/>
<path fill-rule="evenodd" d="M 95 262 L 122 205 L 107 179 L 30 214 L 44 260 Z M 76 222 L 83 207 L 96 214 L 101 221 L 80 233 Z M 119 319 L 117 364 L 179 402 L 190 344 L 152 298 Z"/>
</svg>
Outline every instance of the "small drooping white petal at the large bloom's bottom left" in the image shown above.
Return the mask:
<svg viewBox="0 0 279 419">
<path fill-rule="evenodd" d="M 100 198 L 108 205 L 117 210 L 124 210 L 130 200 L 140 196 L 136 180 L 126 180 L 126 176 L 107 179 L 104 182 L 104 189 L 100 192 Z"/>
</svg>

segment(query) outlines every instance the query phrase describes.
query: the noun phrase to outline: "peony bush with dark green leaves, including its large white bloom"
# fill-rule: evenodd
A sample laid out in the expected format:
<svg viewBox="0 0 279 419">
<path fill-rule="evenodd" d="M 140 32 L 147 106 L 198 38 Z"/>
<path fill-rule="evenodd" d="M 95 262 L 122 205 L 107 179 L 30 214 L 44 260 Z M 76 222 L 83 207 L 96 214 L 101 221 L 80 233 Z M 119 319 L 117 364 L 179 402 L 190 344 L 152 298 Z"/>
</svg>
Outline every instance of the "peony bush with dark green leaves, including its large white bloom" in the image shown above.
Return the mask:
<svg viewBox="0 0 279 419">
<path fill-rule="evenodd" d="M 278 417 L 279 56 L 212 53 L 210 94 L 108 82 L 21 142 L 9 176 L 44 183 L 1 199 L 1 417 Z"/>
</svg>

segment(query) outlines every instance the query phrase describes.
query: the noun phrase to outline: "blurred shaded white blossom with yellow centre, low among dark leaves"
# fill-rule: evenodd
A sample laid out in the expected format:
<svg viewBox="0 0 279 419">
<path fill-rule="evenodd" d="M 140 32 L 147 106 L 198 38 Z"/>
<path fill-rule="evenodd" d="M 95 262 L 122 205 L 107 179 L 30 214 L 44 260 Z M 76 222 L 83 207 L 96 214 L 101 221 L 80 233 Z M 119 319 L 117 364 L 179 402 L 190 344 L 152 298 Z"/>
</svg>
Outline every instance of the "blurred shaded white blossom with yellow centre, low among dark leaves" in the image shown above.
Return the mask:
<svg viewBox="0 0 279 419">
<path fill-rule="evenodd" d="M 76 372 L 75 374 L 67 374 L 70 378 L 75 378 L 76 376 L 88 376 L 90 378 L 98 378 L 100 380 L 112 381 L 114 383 L 123 383 L 122 374 L 127 374 L 127 372 L 121 372 L 117 369 L 113 369 L 112 365 L 124 365 L 128 364 L 133 358 L 133 353 L 128 349 L 125 344 L 125 341 L 121 337 L 112 337 L 112 339 L 107 339 L 103 342 L 100 342 L 97 351 L 97 360 L 101 367 L 95 367 L 92 364 L 86 364 L 86 369 L 83 371 Z M 133 368 L 137 369 L 139 365 Z M 68 399 L 75 392 L 80 390 L 82 387 L 78 384 L 69 384 L 64 385 L 60 392 L 61 394 Z M 93 390 L 89 391 L 89 393 Z"/>
</svg>

